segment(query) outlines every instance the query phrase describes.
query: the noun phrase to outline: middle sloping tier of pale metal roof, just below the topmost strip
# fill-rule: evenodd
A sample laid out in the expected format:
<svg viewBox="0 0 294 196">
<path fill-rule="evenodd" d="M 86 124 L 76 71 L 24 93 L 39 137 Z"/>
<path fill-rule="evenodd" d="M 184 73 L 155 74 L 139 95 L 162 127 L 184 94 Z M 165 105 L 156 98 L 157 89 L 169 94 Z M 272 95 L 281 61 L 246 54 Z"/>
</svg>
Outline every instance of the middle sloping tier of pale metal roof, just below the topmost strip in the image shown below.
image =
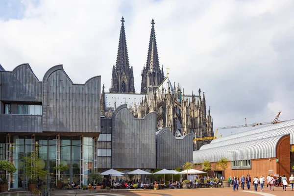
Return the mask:
<svg viewBox="0 0 294 196">
<path fill-rule="evenodd" d="M 204 150 L 204 149 L 209 149 L 209 148 L 214 148 L 214 147 L 222 147 L 222 146 L 233 145 L 233 144 L 239 144 L 242 142 L 247 142 L 247 141 L 252 141 L 252 140 L 257 140 L 257 139 L 264 139 L 264 138 L 269 138 L 269 137 L 284 135 L 284 134 L 290 134 L 290 144 L 294 144 L 294 126 L 286 126 L 283 128 L 273 129 L 270 131 L 250 134 L 250 135 L 247 135 L 244 137 L 234 138 L 232 140 L 224 140 L 221 142 L 206 144 L 206 145 L 203 145 L 202 147 L 200 147 L 199 150 Z"/>
</svg>

